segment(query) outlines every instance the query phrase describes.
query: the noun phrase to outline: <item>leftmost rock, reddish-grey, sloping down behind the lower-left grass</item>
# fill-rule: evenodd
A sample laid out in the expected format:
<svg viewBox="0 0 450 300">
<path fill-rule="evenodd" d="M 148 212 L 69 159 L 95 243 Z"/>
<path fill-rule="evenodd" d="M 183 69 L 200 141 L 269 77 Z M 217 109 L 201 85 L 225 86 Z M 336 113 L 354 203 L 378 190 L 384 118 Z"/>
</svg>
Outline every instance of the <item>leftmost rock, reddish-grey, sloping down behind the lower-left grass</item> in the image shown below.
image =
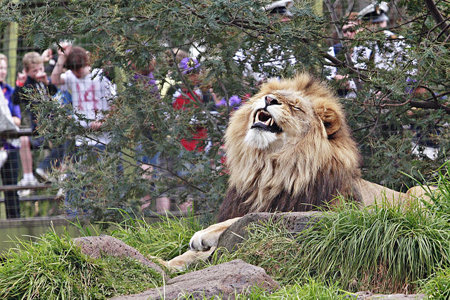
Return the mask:
<svg viewBox="0 0 450 300">
<path fill-rule="evenodd" d="M 156 263 L 146 259 L 141 252 L 133 247 L 125 244 L 121 240 L 117 240 L 110 235 L 99 235 L 94 237 L 76 237 L 73 239 L 75 244 L 82 248 L 82 253 L 98 259 L 103 256 L 131 257 L 143 263 L 153 270 L 160 273 L 165 279 L 169 279 L 164 270 Z"/>
</svg>

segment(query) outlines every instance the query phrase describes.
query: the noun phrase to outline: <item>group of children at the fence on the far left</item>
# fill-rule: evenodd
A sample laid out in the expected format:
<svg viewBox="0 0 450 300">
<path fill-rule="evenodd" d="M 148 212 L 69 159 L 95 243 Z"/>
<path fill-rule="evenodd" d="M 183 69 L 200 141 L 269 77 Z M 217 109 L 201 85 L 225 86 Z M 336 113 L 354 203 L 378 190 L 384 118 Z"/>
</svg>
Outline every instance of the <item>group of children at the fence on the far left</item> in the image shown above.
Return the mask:
<svg viewBox="0 0 450 300">
<path fill-rule="evenodd" d="M 20 105 L 26 107 L 30 117 L 30 126 L 34 132 L 39 126 L 34 107 L 39 101 L 51 100 L 58 91 L 60 99 L 70 100 L 72 103 L 72 117 L 84 116 L 77 120 L 79 124 L 89 129 L 90 136 L 75 138 L 77 146 L 104 149 L 108 144 L 108 133 L 101 131 L 104 112 L 110 109 L 110 100 L 115 96 L 116 88 L 107 77 L 101 76 L 102 70 L 91 69 L 89 53 L 82 47 L 64 44 L 58 51 L 58 60 L 53 68 L 44 69 L 44 60 L 49 51 L 39 54 L 28 52 L 23 56 L 23 71 L 18 74 L 15 89 L 6 84 L 7 58 L 0 56 L 0 81 L 4 99 L 8 103 L 11 119 L 19 126 L 22 114 Z M 39 95 L 39 97 L 37 97 Z M 10 116 L 7 116 L 10 117 Z M 51 116 L 49 116 L 51 117 Z M 86 122 L 86 119 L 89 122 Z M 4 185 L 18 185 L 32 187 L 39 181 L 48 181 L 52 168 L 60 167 L 65 152 L 65 144 L 51 148 L 49 155 L 39 162 L 33 169 L 32 150 L 39 149 L 44 138 L 35 136 L 21 136 L 19 140 L 4 139 L 2 149 L 7 152 L 7 159 L 1 166 L 1 178 Z M 69 141 L 68 141 L 69 143 Z M 47 143 L 46 145 L 49 145 Z M 19 159 L 20 153 L 20 159 Z M 18 181 L 19 160 L 22 165 L 23 178 Z M 38 177 L 38 178 L 36 178 Z M 38 180 L 39 179 L 39 180 Z M 30 189 L 7 190 L 4 192 L 7 219 L 20 218 L 19 197 L 30 195 Z"/>
</svg>

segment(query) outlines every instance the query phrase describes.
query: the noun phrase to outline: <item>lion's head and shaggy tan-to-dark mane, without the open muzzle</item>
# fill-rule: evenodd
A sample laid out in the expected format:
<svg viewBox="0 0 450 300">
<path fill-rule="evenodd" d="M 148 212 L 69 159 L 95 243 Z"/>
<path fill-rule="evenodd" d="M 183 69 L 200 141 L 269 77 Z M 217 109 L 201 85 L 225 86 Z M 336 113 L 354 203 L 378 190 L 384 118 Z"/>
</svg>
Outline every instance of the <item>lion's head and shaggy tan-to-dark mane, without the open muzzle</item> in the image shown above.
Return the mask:
<svg viewBox="0 0 450 300">
<path fill-rule="evenodd" d="M 284 105 L 276 122 L 283 129 L 273 147 L 245 141 L 258 99 L 275 95 Z M 307 103 L 304 115 L 293 114 Z M 307 110 L 307 108 L 309 110 Z M 225 135 L 229 188 L 218 221 L 249 212 L 308 211 L 337 195 L 360 201 L 360 155 L 342 105 L 326 84 L 309 74 L 271 80 L 234 112 Z"/>
</svg>

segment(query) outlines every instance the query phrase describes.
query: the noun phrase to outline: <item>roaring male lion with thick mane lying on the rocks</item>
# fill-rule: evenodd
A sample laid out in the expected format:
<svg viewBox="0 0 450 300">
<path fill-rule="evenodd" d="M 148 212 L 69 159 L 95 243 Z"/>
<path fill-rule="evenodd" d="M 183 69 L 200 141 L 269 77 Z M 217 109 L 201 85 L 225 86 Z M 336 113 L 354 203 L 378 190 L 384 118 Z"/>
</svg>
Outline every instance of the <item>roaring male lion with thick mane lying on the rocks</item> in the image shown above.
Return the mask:
<svg viewBox="0 0 450 300">
<path fill-rule="evenodd" d="M 250 212 L 332 208 L 338 195 L 368 206 L 410 197 L 361 178 L 361 155 L 328 86 L 309 74 L 272 79 L 231 116 L 225 133 L 229 188 L 218 221 L 166 263 L 181 269 L 210 255 L 219 236 Z M 417 190 L 414 190 L 417 193 Z"/>
</svg>

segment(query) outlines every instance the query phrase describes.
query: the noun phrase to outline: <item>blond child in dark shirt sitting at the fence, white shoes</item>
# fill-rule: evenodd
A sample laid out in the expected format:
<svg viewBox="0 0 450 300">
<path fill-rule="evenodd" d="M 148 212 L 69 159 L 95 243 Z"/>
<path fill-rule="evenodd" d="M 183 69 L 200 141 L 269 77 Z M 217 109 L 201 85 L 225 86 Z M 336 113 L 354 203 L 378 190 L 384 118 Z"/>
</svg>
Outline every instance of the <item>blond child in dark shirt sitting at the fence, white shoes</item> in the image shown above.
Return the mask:
<svg viewBox="0 0 450 300">
<path fill-rule="evenodd" d="M 51 84 L 49 77 L 44 71 L 44 61 L 37 52 L 28 52 L 23 57 L 23 73 L 27 75 L 25 84 L 17 86 L 13 93 L 13 103 L 18 105 L 36 105 L 38 100 L 34 98 L 37 93 L 50 98 L 58 91 L 54 84 Z M 31 119 L 31 129 L 34 131 L 37 127 L 37 116 L 33 110 L 27 109 Z M 20 162 L 23 168 L 23 179 L 18 185 L 36 185 L 39 183 L 33 175 L 33 161 L 31 149 L 36 149 L 44 142 L 43 138 L 30 138 L 28 136 L 20 137 Z M 30 190 L 20 190 L 19 195 L 25 197 L 30 195 Z"/>
</svg>

